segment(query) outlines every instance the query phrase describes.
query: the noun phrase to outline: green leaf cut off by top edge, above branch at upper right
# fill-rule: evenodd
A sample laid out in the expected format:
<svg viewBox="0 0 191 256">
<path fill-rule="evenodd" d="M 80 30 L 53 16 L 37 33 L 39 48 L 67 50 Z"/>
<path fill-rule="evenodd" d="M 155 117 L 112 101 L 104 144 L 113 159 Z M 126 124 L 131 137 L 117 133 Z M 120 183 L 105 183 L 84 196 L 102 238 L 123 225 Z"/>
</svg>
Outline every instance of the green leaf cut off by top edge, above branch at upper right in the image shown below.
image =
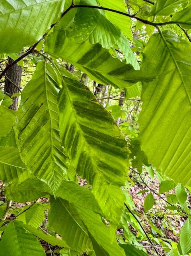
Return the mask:
<svg viewBox="0 0 191 256">
<path fill-rule="evenodd" d="M 151 13 L 154 16 L 168 16 L 188 0 L 156 0 Z"/>
</svg>

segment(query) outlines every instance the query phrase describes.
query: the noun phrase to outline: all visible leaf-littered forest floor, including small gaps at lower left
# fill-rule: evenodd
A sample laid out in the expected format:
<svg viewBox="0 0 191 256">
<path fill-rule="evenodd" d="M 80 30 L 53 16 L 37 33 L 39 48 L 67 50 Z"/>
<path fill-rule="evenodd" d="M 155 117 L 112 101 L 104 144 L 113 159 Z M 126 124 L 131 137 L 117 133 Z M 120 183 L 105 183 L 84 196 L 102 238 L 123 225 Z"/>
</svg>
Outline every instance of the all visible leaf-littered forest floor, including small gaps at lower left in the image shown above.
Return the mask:
<svg viewBox="0 0 191 256">
<path fill-rule="evenodd" d="M 172 212 L 170 213 L 169 210 L 167 210 L 165 207 L 167 206 L 167 203 L 160 198 L 159 196 L 157 196 L 156 194 L 158 193 L 158 189 L 159 189 L 159 182 L 158 179 L 156 177 L 154 177 L 154 179 L 151 179 L 150 176 L 147 173 L 144 173 L 144 182 L 145 184 L 142 182 L 142 179 L 140 178 L 140 175 L 138 175 L 137 173 L 133 173 L 132 171 L 130 171 L 129 173 L 129 177 L 131 179 L 131 186 L 129 189 L 129 194 L 132 197 L 133 203 L 134 203 L 134 210 L 138 213 L 138 216 L 140 218 L 141 223 L 143 223 L 144 225 L 144 229 L 146 230 L 146 232 L 148 234 L 151 234 L 152 237 L 154 238 L 153 242 L 156 246 L 156 248 L 158 249 L 158 251 L 160 252 L 160 255 L 162 256 L 166 256 L 167 252 L 164 251 L 164 248 L 162 248 L 161 246 L 161 242 L 157 243 L 157 239 L 162 239 L 164 241 L 169 242 L 169 244 L 171 244 L 172 242 L 178 243 L 179 242 L 179 232 L 181 229 L 181 226 L 183 225 L 183 223 L 185 222 L 185 217 L 184 216 L 179 216 L 179 215 L 173 215 Z M 80 186 L 86 186 L 86 180 L 84 179 L 79 179 L 79 185 Z M 4 187 L 5 185 L 0 181 L 0 187 Z M 148 187 L 150 189 L 148 189 Z M 148 212 L 144 212 L 144 198 L 146 196 L 146 194 L 148 194 L 148 192 L 146 193 L 140 193 L 137 194 L 138 192 L 142 191 L 142 190 L 149 190 L 152 192 L 156 192 L 156 194 L 153 193 L 154 199 L 155 199 L 155 204 L 152 207 L 152 209 L 150 209 Z M 171 191 L 171 193 L 174 192 L 173 190 Z M 168 193 L 167 193 L 168 194 Z M 164 199 L 166 200 L 166 196 L 162 195 L 164 197 Z M 2 191 L 0 191 L 0 201 L 5 202 L 5 196 L 2 194 Z M 191 200 L 191 198 L 189 198 L 189 200 Z M 37 200 L 38 202 L 45 202 L 47 201 L 47 198 L 39 198 Z M 12 207 L 19 209 L 25 205 L 29 205 L 31 202 L 25 202 L 25 203 L 16 203 L 13 202 Z M 8 219 L 12 219 L 14 217 L 14 215 L 10 214 L 8 216 Z M 160 230 L 162 232 L 161 234 L 158 234 L 158 232 L 156 232 L 155 230 L 153 230 L 153 228 L 150 225 L 150 222 L 152 222 L 152 224 L 154 226 L 156 226 L 156 228 L 158 228 L 158 230 Z M 44 228 L 45 223 L 42 224 L 42 228 Z M 136 237 L 136 239 L 138 240 L 138 242 L 148 251 L 150 256 L 156 255 L 154 254 L 153 248 L 150 245 L 150 243 L 148 242 L 148 240 L 142 239 L 138 237 L 138 231 L 136 229 L 133 228 L 133 226 L 131 226 L 131 223 L 129 224 L 129 228 L 130 230 L 133 232 L 134 236 Z M 51 251 L 55 251 L 55 249 L 58 249 L 55 246 L 50 246 L 49 244 L 45 243 L 44 241 L 41 241 L 41 244 L 43 246 L 43 248 L 45 249 L 45 251 L 47 252 L 47 256 L 52 256 L 53 254 L 50 253 L 50 249 Z M 54 254 L 54 255 L 59 255 L 59 254 Z M 84 254 L 86 255 L 86 254 Z"/>
</svg>

